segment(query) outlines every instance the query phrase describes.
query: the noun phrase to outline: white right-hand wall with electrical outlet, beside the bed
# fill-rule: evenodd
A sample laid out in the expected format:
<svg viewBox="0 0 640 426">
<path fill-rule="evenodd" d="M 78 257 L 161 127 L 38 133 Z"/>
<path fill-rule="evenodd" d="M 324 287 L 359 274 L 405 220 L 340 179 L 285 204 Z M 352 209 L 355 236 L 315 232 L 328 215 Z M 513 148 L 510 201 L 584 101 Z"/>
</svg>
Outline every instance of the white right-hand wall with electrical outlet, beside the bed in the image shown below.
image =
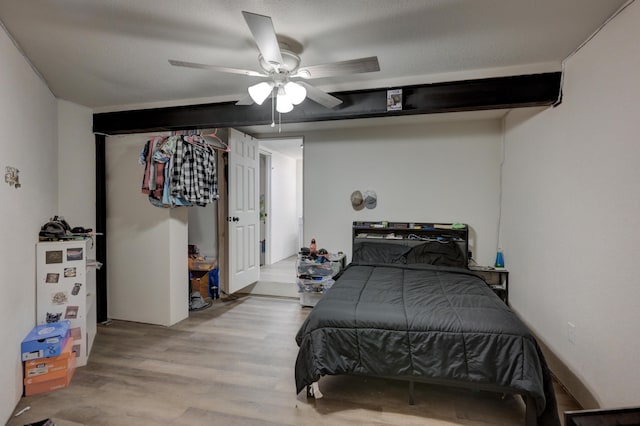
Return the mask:
<svg viewBox="0 0 640 426">
<path fill-rule="evenodd" d="M 506 122 L 509 299 L 587 408 L 640 404 L 638 22 L 635 2 L 567 61 L 560 106 Z"/>
</svg>

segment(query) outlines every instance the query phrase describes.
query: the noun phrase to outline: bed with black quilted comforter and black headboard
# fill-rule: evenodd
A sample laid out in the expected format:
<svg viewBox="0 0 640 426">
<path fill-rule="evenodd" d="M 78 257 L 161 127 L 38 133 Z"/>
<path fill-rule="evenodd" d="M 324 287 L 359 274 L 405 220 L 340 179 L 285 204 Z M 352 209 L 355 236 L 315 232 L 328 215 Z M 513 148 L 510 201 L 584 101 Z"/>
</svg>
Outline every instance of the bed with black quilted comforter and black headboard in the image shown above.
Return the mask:
<svg viewBox="0 0 640 426">
<path fill-rule="evenodd" d="M 408 380 L 410 401 L 414 382 L 463 386 L 520 394 L 527 425 L 560 425 L 536 340 L 466 268 L 466 226 L 357 226 L 352 262 L 296 335 L 298 393 L 337 374 Z"/>
</svg>

